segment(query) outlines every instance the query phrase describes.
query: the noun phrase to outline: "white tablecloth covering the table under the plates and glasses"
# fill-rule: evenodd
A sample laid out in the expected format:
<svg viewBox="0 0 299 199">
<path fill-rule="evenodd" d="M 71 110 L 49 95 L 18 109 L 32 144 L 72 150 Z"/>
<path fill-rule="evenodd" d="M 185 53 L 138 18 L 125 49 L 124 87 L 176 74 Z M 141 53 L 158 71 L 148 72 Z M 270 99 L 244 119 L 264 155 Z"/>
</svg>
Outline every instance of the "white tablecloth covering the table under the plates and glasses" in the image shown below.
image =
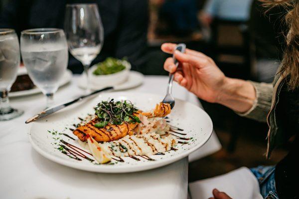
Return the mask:
<svg viewBox="0 0 299 199">
<path fill-rule="evenodd" d="M 72 82 L 58 90 L 56 103 L 84 93 Z M 146 76 L 142 86 L 130 89 L 164 94 L 167 77 Z M 174 96 L 200 105 L 196 97 L 175 85 Z M 99 174 L 71 169 L 51 162 L 35 152 L 27 138 L 24 121 L 42 110 L 42 94 L 10 100 L 24 114 L 0 122 L 0 193 L 1 199 L 185 199 L 187 198 L 188 161 L 130 174 Z M 221 148 L 215 134 L 189 159 L 195 160 Z"/>
</svg>

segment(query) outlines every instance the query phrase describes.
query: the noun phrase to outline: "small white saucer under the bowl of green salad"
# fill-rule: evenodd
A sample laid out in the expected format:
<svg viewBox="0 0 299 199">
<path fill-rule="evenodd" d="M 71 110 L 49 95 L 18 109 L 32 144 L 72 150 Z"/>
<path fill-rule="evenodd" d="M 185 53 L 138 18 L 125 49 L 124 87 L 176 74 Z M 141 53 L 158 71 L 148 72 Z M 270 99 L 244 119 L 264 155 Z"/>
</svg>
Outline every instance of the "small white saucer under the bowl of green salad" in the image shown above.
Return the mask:
<svg viewBox="0 0 299 199">
<path fill-rule="evenodd" d="M 129 89 L 129 88 L 134 88 L 134 87 L 141 85 L 143 83 L 143 81 L 144 81 L 144 75 L 142 73 L 131 70 L 127 81 L 125 81 L 124 83 L 115 85 L 114 90 L 120 91 L 120 90 Z M 86 88 L 86 76 L 84 73 L 80 76 L 80 78 L 78 80 L 78 86 L 83 89 Z M 99 86 L 99 85 L 94 85 L 94 84 L 91 85 L 92 90 L 98 90 L 98 89 L 102 89 L 105 87 L 106 86 Z"/>
</svg>

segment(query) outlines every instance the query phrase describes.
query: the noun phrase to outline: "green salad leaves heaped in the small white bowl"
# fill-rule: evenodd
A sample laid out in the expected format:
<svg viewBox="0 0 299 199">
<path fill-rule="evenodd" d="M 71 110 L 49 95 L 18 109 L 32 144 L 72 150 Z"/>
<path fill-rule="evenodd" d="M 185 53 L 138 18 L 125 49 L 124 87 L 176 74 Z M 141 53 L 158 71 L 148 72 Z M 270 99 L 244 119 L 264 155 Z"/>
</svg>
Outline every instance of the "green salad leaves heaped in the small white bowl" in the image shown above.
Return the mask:
<svg viewBox="0 0 299 199">
<path fill-rule="evenodd" d="M 94 75 L 109 75 L 126 69 L 129 62 L 123 59 L 108 57 L 105 61 L 97 63 L 97 68 L 93 71 Z"/>
</svg>

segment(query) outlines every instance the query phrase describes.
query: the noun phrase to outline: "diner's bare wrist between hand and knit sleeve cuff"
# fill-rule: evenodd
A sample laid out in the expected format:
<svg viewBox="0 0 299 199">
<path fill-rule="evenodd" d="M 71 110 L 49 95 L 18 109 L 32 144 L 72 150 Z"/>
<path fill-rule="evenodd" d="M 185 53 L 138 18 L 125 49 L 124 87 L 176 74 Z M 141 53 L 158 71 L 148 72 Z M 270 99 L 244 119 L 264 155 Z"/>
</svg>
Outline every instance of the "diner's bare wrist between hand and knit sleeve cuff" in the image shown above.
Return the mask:
<svg viewBox="0 0 299 199">
<path fill-rule="evenodd" d="M 254 86 L 245 80 L 226 78 L 219 91 L 217 103 L 238 113 L 245 113 L 252 108 L 256 100 Z"/>
</svg>

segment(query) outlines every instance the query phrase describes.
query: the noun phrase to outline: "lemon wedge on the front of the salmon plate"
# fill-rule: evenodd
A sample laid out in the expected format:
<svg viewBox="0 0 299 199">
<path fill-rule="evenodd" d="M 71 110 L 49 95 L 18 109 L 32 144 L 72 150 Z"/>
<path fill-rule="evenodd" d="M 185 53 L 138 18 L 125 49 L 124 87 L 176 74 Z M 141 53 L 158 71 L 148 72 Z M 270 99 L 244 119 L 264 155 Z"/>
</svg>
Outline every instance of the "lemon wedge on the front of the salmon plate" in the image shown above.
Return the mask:
<svg viewBox="0 0 299 199">
<path fill-rule="evenodd" d="M 111 161 L 111 156 L 101 148 L 100 144 L 93 139 L 91 136 L 88 136 L 87 143 L 89 146 L 89 150 L 92 153 L 92 156 L 96 159 L 96 161 L 100 164 L 105 164 Z"/>
</svg>

